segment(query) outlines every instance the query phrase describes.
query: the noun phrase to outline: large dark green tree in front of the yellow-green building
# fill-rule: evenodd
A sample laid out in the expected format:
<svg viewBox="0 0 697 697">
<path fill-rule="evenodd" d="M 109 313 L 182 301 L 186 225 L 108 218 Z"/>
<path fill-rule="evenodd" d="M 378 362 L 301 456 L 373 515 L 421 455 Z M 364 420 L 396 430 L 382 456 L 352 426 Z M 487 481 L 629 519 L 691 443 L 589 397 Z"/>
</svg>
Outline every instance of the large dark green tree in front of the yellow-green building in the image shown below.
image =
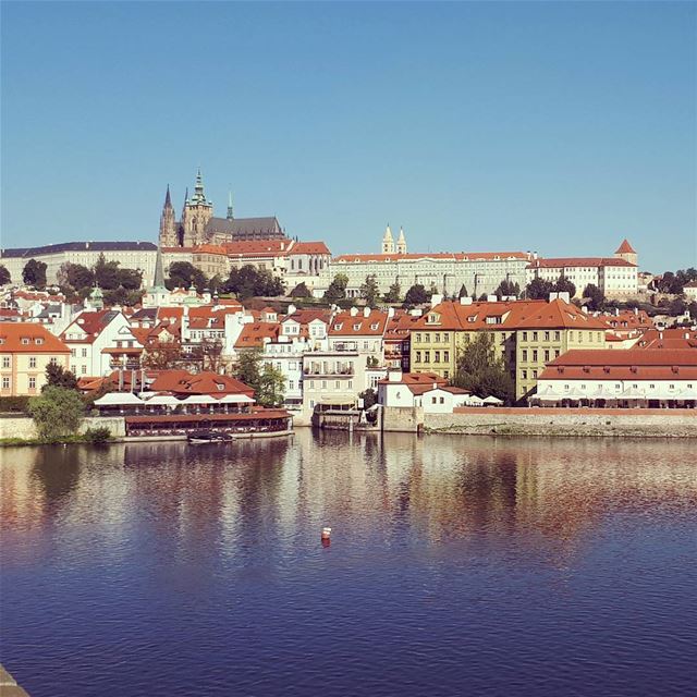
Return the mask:
<svg viewBox="0 0 697 697">
<path fill-rule="evenodd" d="M 506 403 L 514 399 L 514 383 L 502 358 L 497 357 L 494 338 L 482 332 L 457 357 L 453 384 L 480 398 L 493 395 Z"/>
</svg>

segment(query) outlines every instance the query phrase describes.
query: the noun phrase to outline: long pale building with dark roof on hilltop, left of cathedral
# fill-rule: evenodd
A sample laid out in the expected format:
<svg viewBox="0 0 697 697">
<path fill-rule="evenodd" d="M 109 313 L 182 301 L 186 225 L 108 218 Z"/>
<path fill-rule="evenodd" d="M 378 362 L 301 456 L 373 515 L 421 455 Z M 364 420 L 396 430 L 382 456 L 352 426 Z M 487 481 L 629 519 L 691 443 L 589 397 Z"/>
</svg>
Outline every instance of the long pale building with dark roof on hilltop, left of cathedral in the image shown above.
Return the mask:
<svg viewBox="0 0 697 697">
<path fill-rule="evenodd" d="M 151 242 L 63 242 L 41 247 L 0 249 L 0 264 L 10 271 L 14 283 L 21 283 L 22 271 L 27 261 L 42 261 L 46 264 L 47 283 L 56 285 L 63 264 L 80 264 L 91 268 L 100 255 L 107 261 L 118 261 L 121 268 L 140 271 L 144 285 L 152 283 L 157 246 Z"/>
</svg>

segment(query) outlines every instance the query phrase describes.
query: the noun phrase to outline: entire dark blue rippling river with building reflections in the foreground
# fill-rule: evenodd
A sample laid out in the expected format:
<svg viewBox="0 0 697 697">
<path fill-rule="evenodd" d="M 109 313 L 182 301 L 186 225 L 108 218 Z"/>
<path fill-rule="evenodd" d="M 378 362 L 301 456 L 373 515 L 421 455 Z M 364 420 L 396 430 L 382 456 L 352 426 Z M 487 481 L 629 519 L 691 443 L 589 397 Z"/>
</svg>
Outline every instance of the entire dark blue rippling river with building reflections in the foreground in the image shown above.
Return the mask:
<svg viewBox="0 0 697 697">
<path fill-rule="evenodd" d="M 695 694 L 694 442 L 304 429 L 0 477 L 33 697 Z"/>
</svg>

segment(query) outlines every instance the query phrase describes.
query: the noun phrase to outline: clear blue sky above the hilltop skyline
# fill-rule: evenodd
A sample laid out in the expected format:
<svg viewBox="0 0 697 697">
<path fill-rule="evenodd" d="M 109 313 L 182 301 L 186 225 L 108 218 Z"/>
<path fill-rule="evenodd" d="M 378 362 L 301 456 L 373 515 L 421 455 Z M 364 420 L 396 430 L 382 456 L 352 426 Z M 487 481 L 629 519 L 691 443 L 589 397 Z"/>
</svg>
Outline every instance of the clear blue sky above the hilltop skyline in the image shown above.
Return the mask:
<svg viewBox="0 0 697 697">
<path fill-rule="evenodd" d="M 2 246 L 224 216 L 335 254 L 697 265 L 697 4 L 2 2 Z"/>
</svg>

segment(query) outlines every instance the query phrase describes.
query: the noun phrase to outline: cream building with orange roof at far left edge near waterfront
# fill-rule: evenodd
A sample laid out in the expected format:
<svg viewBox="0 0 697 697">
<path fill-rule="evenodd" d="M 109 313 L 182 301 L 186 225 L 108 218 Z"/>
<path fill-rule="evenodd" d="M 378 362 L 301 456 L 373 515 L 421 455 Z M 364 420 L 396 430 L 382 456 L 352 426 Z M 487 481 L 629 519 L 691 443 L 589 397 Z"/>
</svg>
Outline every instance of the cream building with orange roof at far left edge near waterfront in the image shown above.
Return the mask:
<svg viewBox="0 0 697 697">
<path fill-rule="evenodd" d="M 39 394 L 48 364 L 68 369 L 69 359 L 69 346 L 46 327 L 0 322 L 0 396 Z"/>
</svg>

